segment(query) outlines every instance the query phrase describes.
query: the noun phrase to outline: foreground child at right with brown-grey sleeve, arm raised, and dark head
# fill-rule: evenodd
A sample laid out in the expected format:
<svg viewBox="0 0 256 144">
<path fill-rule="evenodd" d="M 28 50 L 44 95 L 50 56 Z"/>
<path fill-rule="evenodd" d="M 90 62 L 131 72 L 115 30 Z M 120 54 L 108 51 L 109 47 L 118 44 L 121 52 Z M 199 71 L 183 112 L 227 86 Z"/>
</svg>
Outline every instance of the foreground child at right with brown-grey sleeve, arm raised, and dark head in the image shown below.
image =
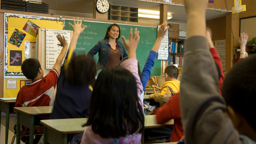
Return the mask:
<svg viewBox="0 0 256 144">
<path fill-rule="evenodd" d="M 255 109 L 256 100 L 256 57 L 241 60 L 225 77 L 225 105 L 218 92 L 218 74 L 205 37 L 207 3 L 184 2 L 188 21 L 180 108 L 186 144 L 255 144 L 251 110 Z"/>
</svg>

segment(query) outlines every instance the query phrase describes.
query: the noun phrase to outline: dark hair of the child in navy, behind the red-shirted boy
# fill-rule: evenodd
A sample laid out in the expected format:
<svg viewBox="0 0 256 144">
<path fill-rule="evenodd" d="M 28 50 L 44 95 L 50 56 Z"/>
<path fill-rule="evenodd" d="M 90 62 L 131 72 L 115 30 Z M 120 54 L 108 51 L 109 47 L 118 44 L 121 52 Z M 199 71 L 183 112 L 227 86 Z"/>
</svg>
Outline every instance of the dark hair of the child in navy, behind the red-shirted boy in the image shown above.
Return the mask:
<svg viewBox="0 0 256 144">
<path fill-rule="evenodd" d="M 96 75 L 96 63 L 90 56 L 78 55 L 70 59 L 66 79 L 73 86 L 93 85 Z"/>
</svg>

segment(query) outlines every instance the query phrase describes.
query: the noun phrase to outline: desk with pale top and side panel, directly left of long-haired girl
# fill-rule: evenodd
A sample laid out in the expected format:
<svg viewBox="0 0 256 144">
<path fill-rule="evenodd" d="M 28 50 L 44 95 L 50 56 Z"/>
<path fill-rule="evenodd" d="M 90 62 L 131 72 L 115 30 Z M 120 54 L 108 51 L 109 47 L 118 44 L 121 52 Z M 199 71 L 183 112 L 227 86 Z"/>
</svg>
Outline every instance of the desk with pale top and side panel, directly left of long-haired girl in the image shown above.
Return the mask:
<svg viewBox="0 0 256 144">
<path fill-rule="evenodd" d="M 82 124 L 87 122 L 88 118 L 67 118 L 41 120 L 44 125 L 44 144 L 67 144 L 67 135 L 84 133 L 86 127 Z"/>
</svg>

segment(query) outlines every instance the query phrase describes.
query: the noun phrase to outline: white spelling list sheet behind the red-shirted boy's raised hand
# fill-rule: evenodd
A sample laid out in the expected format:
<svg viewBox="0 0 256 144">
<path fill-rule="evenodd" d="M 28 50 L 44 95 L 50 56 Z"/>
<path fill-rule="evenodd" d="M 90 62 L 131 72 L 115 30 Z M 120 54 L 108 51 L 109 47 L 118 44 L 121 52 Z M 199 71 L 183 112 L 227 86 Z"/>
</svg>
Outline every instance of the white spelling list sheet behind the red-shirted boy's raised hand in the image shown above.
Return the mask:
<svg viewBox="0 0 256 144">
<path fill-rule="evenodd" d="M 58 34 L 64 35 L 68 45 L 70 43 L 70 31 L 46 29 L 46 69 L 52 69 L 62 50 L 62 47 L 57 45 L 60 44 L 56 37 Z"/>
</svg>

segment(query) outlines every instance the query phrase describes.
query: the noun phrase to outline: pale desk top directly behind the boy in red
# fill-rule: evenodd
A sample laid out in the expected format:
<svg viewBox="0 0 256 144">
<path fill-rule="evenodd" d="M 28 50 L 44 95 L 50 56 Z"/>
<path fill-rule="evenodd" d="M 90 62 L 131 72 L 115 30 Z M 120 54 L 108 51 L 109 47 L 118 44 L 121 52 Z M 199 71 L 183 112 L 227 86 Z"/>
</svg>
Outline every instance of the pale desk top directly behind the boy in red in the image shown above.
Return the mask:
<svg viewBox="0 0 256 144">
<path fill-rule="evenodd" d="M 22 112 L 26 115 L 49 115 L 52 113 L 53 106 L 45 107 L 14 107 L 17 112 Z"/>
</svg>

